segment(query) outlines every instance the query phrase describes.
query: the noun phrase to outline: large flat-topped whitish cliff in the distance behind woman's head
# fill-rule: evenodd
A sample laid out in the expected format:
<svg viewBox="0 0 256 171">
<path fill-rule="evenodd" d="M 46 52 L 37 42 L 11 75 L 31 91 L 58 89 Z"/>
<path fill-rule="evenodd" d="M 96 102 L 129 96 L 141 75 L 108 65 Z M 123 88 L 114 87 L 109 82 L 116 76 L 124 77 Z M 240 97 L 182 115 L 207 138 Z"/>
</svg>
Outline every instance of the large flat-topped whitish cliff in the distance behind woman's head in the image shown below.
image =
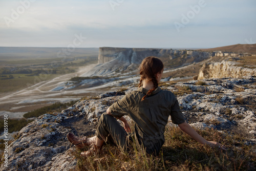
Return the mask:
<svg viewBox="0 0 256 171">
<path fill-rule="evenodd" d="M 136 74 L 139 64 L 147 56 L 159 57 L 165 62 L 165 66 L 177 68 L 211 57 L 228 55 L 231 56 L 234 54 L 224 54 L 220 51 L 203 52 L 173 49 L 102 47 L 99 48 L 98 65 L 81 76 L 119 76 L 120 74 Z"/>
</svg>

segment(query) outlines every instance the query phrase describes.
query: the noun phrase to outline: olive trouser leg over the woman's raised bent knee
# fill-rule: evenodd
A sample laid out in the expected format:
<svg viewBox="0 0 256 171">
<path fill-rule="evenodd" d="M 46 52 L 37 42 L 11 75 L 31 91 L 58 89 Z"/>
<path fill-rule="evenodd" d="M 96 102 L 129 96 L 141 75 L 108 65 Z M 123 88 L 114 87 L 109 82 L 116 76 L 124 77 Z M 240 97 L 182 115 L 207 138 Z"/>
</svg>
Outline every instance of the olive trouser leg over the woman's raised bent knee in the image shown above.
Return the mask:
<svg viewBox="0 0 256 171">
<path fill-rule="evenodd" d="M 106 141 L 106 143 L 116 144 L 126 149 L 126 136 L 128 134 L 118 123 L 116 118 L 107 113 L 103 113 L 99 119 L 96 136 Z"/>
</svg>

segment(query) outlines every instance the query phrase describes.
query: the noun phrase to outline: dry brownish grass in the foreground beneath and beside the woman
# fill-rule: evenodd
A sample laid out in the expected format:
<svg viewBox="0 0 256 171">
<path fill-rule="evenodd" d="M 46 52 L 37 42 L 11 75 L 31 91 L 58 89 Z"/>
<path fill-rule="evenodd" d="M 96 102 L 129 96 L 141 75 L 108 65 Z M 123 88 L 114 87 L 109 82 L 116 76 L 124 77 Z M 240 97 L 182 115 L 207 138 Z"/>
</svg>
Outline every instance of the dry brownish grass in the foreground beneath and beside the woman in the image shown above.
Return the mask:
<svg viewBox="0 0 256 171">
<path fill-rule="evenodd" d="M 82 158 L 76 148 L 73 155 L 77 170 L 254 170 L 255 146 L 245 145 L 243 136 L 224 135 L 210 129 L 197 132 L 207 140 L 225 144 L 227 151 L 201 145 L 179 127 L 166 126 L 165 143 L 159 156 L 147 155 L 135 143 L 130 153 L 105 145 L 95 156 Z"/>
</svg>

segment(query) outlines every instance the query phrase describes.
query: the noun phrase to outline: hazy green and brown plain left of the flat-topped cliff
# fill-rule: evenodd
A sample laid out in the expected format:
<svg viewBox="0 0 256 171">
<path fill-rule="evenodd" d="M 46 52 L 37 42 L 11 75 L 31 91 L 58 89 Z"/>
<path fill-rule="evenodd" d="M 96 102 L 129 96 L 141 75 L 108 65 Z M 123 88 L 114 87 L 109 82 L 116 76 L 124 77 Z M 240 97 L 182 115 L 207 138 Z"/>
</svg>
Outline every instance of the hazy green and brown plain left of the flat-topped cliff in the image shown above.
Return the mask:
<svg viewBox="0 0 256 171">
<path fill-rule="evenodd" d="M 0 93 L 22 90 L 98 61 L 98 48 L 77 48 L 72 53 L 64 50 L 0 47 Z"/>
</svg>

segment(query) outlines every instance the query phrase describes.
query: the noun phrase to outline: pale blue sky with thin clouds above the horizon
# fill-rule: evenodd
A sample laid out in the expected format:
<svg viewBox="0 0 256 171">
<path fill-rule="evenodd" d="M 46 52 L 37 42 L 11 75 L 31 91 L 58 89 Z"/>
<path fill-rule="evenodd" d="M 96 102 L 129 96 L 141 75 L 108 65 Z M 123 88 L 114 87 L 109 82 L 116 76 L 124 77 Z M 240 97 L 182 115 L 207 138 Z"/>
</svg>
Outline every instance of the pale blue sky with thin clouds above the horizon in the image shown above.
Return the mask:
<svg viewBox="0 0 256 171">
<path fill-rule="evenodd" d="M 0 0 L 0 47 L 193 49 L 255 43 L 255 0 Z"/>
</svg>

